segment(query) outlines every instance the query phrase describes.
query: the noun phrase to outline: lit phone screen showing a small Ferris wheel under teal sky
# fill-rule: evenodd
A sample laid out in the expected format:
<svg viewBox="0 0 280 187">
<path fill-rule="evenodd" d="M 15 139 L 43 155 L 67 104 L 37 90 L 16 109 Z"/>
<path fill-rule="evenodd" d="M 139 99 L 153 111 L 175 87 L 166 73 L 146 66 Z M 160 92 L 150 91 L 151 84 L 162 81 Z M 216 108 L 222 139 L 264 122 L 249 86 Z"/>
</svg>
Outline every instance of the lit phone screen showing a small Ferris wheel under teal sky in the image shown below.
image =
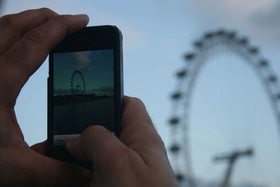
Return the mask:
<svg viewBox="0 0 280 187">
<path fill-rule="evenodd" d="M 113 50 L 54 53 L 52 102 L 54 146 L 89 125 L 115 132 Z"/>
</svg>

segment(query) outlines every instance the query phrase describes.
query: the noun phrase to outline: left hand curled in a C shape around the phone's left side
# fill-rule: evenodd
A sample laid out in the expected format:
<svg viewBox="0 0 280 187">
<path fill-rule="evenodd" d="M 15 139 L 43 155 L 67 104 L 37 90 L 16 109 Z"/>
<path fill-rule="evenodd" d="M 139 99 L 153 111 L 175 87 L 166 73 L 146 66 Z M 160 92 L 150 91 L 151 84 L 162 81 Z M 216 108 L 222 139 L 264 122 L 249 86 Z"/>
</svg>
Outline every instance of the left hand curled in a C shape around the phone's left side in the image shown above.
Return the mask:
<svg viewBox="0 0 280 187">
<path fill-rule="evenodd" d="M 14 106 L 29 76 L 66 34 L 85 27 L 86 15 L 57 15 L 48 8 L 0 18 L 0 186 L 85 186 L 87 169 L 45 156 L 46 144 L 29 147 Z"/>
</svg>

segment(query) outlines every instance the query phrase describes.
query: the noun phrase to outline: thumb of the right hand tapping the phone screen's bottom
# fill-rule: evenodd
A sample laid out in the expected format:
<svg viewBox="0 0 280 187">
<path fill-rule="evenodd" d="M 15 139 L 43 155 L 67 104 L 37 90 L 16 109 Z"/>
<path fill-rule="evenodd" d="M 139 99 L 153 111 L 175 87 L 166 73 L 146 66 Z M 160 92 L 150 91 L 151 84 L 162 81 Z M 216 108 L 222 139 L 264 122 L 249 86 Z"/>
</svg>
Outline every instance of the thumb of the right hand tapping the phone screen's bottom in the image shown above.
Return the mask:
<svg viewBox="0 0 280 187">
<path fill-rule="evenodd" d="M 91 125 L 76 139 L 66 142 L 66 150 L 80 160 L 103 165 L 128 149 L 112 132 L 100 125 Z"/>
</svg>

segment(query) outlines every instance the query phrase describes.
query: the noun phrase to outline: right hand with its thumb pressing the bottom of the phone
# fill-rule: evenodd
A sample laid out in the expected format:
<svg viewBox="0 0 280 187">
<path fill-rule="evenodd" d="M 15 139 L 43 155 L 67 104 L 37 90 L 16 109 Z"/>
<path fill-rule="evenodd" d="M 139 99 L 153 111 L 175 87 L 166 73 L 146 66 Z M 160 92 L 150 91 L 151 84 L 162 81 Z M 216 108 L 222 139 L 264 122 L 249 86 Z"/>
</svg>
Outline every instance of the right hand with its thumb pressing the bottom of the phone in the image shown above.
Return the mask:
<svg viewBox="0 0 280 187">
<path fill-rule="evenodd" d="M 74 157 L 93 162 L 92 187 L 174 187 L 165 146 L 144 104 L 125 97 L 119 139 L 99 125 L 67 141 Z"/>
</svg>

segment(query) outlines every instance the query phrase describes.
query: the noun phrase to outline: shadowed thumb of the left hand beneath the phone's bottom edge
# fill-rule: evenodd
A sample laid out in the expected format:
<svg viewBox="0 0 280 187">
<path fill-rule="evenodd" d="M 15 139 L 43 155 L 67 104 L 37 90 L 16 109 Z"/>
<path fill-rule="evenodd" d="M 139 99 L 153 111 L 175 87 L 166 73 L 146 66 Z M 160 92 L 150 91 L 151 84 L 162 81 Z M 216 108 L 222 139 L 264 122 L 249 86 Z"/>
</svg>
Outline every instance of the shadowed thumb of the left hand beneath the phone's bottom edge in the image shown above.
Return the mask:
<svg viewBox="0 0 280 187">
<path fill-rule="evenodd" d="M 12 148 L 10 158 L 1 167 L 7 173 L 17 174 L 15 180 L 7 178 L 6 186 L 89 186 L 92 172 L 78 165 L 62 162 L 35 153 L 29 148 Z M 17 153 L 17 154 L 15 154 Z M 1 181 L 5 184 L 5 181 Z M 3 185 L 3 183 L 1 183 Z M 5 186 L 5 185 L 3 185 Z"/>
</svg>

